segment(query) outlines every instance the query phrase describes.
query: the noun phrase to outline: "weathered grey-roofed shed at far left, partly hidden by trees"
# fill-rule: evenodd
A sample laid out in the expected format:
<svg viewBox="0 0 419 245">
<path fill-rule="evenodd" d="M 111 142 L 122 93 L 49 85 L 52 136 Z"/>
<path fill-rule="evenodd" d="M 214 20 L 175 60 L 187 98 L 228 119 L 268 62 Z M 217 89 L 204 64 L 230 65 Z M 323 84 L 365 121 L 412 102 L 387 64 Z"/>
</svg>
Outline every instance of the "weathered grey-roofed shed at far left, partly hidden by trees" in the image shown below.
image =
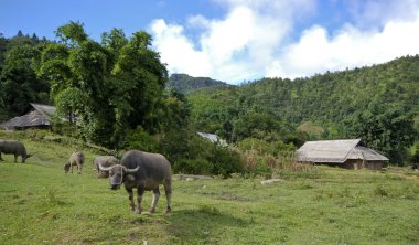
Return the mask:
<svg viewBox="0 0 419 245">
<path fill-rule="evenodd" d="M 55 107 L 31 103 L 31 108 L 20 117 L 0 124 L 0 128 L 17 130 L 25 128 L 47 128 L 51 126 L 51 117 L 55 114 Z"/>
</svg>

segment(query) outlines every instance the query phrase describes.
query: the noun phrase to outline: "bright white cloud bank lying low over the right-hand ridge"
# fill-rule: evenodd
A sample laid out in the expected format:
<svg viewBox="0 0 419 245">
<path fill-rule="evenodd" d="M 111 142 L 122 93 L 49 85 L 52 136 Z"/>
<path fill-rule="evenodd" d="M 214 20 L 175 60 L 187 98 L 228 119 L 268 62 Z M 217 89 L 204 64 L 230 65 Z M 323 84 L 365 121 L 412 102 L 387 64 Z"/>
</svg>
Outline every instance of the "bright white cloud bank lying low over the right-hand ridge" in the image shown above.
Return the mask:
<svg viewBox="0 0 419 245">
<path fill-rule="evenodd" d="M 419 32 L 415 30 L 419 30 L 419 18 L 412 22 L 390 21 L 379 32 L 362 32 L 346 25 L 332 38 L 324 28 L 313 26 L 302 33 L 298 43 L 284 47 L 268 75 L 310 76 L 419 54 Z"/>
</svg>

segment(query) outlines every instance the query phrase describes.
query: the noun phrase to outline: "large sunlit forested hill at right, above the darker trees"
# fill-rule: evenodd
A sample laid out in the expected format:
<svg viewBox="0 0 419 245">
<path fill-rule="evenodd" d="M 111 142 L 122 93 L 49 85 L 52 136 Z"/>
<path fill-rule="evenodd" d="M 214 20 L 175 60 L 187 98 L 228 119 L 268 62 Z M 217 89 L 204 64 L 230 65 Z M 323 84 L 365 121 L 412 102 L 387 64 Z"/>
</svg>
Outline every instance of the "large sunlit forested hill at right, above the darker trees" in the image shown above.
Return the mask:
<svg viewBox="0 0 419 245">
<path fill-rule="evenodd" d="M 418 95 L 416 55 L 308 78 L 264 78 L 239 87 L 201 89 L 189 98 L 202 130 L 233 134 L 233 139 L 235 131 L 240 131 L 237 121 L 251 121 L 255 115 L 296 127 L 303 122 L 318 125 L 323 128 L 319 138 L 337 138 L 344 137 L 339 130 L 345 128 L 342 122 L 374 106 L 383 107 L 383 114 L 397 107 L 402 114 L 413 114 L 418 121 Z"/>
</svg>

